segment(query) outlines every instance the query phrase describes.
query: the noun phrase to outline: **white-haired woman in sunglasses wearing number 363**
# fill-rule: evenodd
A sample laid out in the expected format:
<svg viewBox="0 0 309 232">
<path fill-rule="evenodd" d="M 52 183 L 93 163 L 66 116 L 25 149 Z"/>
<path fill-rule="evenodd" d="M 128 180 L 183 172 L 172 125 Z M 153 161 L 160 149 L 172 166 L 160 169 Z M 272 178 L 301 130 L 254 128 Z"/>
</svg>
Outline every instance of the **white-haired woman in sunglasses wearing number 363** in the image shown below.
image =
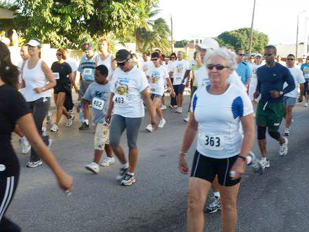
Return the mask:
<svg viewBox="0 0 309 232">
<path fill-rule="evenodd" d="M 179 153 L 179 170 L 187 174 L 185 155 L 197 132 L 189 181 L 187 231 L 203 231 L 203 208 L 216 175 L 222 202 L 222 231 L 235 231 L 240 178 L 253 146 L 253 106 L 243 89 L 227 82 L 237 67 L 235 54 L 227 49 L 216 49 L 207 54 L 206 64 L 210 84 L 199 88 L 192 97 L 190 120 Z"/>
</svg>

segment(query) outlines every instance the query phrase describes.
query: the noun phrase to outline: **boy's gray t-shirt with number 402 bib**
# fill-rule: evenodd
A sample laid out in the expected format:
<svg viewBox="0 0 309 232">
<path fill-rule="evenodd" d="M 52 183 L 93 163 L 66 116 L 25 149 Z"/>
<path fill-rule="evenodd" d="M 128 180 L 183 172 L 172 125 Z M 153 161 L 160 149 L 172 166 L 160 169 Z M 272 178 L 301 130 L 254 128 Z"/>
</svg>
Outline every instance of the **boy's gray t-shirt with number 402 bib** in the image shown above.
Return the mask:
<svg viewBox="0 0 309 232">
<path fill-rule="evenodd" d="M 104 122 L 104 117 L 108 110 L 109 97 L 111 96 L 109 86 L 109 82 L 107 84 L 93 82 L 89 85 L 84 97 L 82 97 L 92 105 L 93 122 L 95 124 Z"/>
</svg>

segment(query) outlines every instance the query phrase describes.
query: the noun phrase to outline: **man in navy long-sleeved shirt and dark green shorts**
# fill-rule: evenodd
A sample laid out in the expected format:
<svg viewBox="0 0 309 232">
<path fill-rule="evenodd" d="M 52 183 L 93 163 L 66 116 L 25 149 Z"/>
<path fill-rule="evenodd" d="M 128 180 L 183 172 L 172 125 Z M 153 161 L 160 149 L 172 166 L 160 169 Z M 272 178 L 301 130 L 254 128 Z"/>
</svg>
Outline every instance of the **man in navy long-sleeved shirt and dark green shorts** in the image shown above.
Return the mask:
<svg viewBox="0 0 309 232">
<path fill-rule="evenodd" d="M 278 130 L 284 116 L 283 96 L 295 89 L 295 82 L 290 71 L 275 62 L 276 52 L 277 49 L 272 45 L 264 48 L 266 65 L 257 70 L 258 86 L 253 94 L 254 98 L 258 98 L 261 94 L 255 121 L 258 126 L 258 144 L 262 153 L 263 167 L 270 167 L 266 153 L 266 128 L 269 135 L 279 141 L 279 155 L 285 156 L 288 153 L 288 139 L 282 137 Z M 288 86 L 283 89 L 284 82 Z"/>
</svg>

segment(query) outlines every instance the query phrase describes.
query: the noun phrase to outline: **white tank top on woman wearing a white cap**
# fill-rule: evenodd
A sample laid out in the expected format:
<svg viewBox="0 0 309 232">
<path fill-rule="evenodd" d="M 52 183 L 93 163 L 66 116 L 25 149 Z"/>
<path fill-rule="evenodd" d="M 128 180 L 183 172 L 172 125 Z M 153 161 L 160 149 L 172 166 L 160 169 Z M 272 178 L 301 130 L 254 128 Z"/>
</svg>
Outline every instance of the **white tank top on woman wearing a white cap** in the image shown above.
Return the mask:
<svg viewBox="0 0 309 232">
<path fill-rule="evenodd" d="M 28 60 L 23 65 L 23 80 L 25 82 L 25 90 L 23 97 L 27 102 L 34 102 L 41 97 L 52 97 L 49 91 L 43 93 L 36 93 L 35 88 L 43 88 L 47 84 L 45 73 L 42 70 L 42 60 L 36 62 L 33 69 L 28 69 Z"/>
</svg>

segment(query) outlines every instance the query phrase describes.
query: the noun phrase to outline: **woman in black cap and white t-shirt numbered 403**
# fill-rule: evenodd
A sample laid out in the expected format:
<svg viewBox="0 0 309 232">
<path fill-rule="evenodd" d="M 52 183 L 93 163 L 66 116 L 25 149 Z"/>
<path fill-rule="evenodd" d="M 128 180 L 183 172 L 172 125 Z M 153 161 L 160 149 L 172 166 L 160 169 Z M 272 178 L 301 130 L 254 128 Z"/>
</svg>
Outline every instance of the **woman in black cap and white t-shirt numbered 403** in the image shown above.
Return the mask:
<svg viewBox="0 0 309 232">
<path fill-rule="evenodd" d="M 108 106 L 106 122 L 111 121 L 109 142 L 119 161 L 122 163 L 117 180 L 122 185 L 128 186 L 135 183 L 135 167 L 137 165 L 137 135 L 141 120 L 145 115 L 144 102 L 150 112 L 151 124 L 157 128 L 155 119 L 155 107 L 148 94 L 148 80 L 145 73 L 133 65 L 132 55 L 122 49 L 117 51 L 116 58 L 118 68 L 113 74 L 111 82 L 111 100 Z M 113 119 L 111 113 L 113 111 Z M 120 137 L 126 129 L 128 140 L 127 162 L 124 150 L 119 145 Z"/>
</svg>

